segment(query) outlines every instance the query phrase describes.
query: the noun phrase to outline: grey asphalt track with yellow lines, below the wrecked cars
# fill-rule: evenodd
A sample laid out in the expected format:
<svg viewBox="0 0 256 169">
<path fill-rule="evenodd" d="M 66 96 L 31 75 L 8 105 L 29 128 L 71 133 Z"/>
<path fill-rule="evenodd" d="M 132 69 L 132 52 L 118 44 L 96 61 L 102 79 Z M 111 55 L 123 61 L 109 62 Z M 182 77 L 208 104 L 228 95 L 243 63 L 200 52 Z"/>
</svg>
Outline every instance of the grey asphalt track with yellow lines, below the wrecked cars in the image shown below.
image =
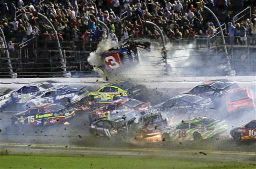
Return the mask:
<svg viewBox="0 0 256 169">
<path fill-rule="evenodd" d="M 169 89 L 173 95 L 186 89 Z M 169 98 L 162 91 L 161 98 Z M 254 91 L 255 92 L 255 91 Z M 149 99 L 150 100 L 150 99 Z M 151 98 L 157 104 L 159 99 Z M 201 142 L 165 142 L 160 138 L 130 138 L 124 142 L 113 139 L 97 138 L 88 132 L 89 112 L 77 111 L 70 119 L 69 125 L 62 123 L 47 127 L 11 126 L 13 114 L 17 113 L 14 105 L 3 109 L 0 113 L 0 149 L 1 154 L 56 154 L 56 155 L 92 155 L 92 156 L 162 156 L 178 159 L 201 159 L 219 161 L 239 161 L 256 163 L 256 143 L 234 141 L 229 135 L 230 129 L 255 119 L 255 110 L 243 112 L 242 115 L 224 115 L 229 130 L 220 136 Z M 216 115 L 212 110 L 212 115 Z M 217 118 L 217 117 L 216 117 Z M 173 123 L 183 120 L 173 119 Z"/>
</svg>

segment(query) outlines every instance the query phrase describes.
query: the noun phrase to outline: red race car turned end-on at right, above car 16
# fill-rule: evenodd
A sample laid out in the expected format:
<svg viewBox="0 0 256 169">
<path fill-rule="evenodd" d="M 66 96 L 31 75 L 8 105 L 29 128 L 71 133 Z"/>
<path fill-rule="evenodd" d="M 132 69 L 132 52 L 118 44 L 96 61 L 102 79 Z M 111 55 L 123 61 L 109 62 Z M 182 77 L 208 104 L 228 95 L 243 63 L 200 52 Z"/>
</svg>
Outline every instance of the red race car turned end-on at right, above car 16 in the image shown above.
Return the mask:
<svg viewBox="0 0 256 169">
<path fill-rule="evenodd" d="M 237 88 L 227 92 L 226 106 L 228 113 L 240 109 L 254 109 L 253 92 L 249 88 Z"/>
</svg>

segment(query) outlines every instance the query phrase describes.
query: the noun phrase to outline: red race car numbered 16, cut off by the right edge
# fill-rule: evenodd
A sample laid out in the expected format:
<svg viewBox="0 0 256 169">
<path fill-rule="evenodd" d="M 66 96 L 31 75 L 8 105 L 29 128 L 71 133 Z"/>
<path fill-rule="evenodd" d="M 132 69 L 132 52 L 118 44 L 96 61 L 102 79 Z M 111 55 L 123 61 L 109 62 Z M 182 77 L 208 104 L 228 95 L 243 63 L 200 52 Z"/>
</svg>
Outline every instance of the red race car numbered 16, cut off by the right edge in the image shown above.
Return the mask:
<svg viewBox="0 0 256 169">
<path fill-rule="evenodd" d="M 256 120 L 232 129 L 230 135 L 234 140 L 256 140 Z"/>
</svg>

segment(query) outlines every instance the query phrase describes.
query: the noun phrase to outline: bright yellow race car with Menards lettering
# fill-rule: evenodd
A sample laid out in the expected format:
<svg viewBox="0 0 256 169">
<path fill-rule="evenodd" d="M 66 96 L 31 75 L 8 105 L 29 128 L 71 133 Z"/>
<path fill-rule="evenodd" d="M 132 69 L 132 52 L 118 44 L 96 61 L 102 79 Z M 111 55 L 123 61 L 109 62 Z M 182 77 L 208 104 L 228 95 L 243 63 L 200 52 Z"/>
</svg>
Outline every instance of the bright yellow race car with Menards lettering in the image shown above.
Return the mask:
<svg viewBox="0 0 256 169">
<path fill-rule="evenodd" d="M 90 92 L 88 98 L 97 103 L 110 103 L 122 98 L 137 98 L 143 90 L 145 90 L 143 85 L 119 81 L 105 85 L 95 92 Z"/>
</svg>

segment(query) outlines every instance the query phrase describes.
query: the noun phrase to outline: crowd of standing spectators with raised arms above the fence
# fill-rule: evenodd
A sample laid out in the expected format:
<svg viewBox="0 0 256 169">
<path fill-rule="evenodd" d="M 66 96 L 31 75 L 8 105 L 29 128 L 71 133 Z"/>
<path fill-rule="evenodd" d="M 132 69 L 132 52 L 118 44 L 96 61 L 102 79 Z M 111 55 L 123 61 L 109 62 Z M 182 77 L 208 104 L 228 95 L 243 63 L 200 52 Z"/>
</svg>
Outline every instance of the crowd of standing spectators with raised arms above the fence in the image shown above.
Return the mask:
<svg viewBox="0 0 256 169">
<path fill-rule="evenodd" d="M 227 42 L 256 44 L 256 0 L 203 0 L 220 23 L 227 24 Z M 235 14 L 250 6 L 252 15 L 235 25 Z M 51 24 L 38 15 L 45 15 Z M 106 28 L 99 25 L 106 24 Z M 0 0 L 0 26 L 9 47 L 24 41 L 81 40 L 98 42 L 107 38 L 117 44 L 129 37 L 161 39 L 155 23 L 167 40 L 194 40 L 212 36 L 216 22 L 197 0 Z M 249 40 L 248 40 L 249 37 Z M 2 48 L 2 38 L 0 47 Z M 48 47 L 48 46 L 45 46 Z"/>
</svg>

